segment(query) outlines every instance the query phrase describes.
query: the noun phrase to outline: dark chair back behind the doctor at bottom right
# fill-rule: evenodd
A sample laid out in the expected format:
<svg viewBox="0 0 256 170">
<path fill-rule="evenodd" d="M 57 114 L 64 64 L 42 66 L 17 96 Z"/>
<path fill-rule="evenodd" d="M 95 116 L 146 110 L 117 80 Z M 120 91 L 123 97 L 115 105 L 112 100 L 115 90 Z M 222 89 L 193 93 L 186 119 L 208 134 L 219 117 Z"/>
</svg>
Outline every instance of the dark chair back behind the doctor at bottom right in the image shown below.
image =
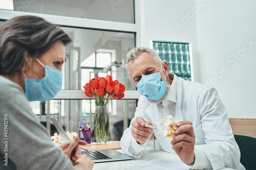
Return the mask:
<svg viewBox="0 0 256 170">
<path fill-rule="evenodd" d="M 240 162 L 244 165 L 246 170 L 256 168 L 256 138 L 242 135 L 234 135 L 240 152 Z"/>
</svg>

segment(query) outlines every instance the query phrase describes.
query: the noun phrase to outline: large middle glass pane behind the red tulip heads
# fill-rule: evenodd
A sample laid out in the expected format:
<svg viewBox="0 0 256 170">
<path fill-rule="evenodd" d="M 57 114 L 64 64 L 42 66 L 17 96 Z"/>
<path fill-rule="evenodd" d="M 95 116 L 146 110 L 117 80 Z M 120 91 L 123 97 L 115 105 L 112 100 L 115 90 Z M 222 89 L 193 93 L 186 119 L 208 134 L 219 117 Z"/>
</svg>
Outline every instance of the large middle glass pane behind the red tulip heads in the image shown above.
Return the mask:
<svg viewBox="0 0 256 170">
<path fill-rule="evenodd" d="M 135 34 L 62 27 L 72 38 L 66 47 L 62 89 L 81 90 L 90 79 L 112 75 L 136 90 L 124 68 L 126 54 L 135 46 Z"/>
</svg>

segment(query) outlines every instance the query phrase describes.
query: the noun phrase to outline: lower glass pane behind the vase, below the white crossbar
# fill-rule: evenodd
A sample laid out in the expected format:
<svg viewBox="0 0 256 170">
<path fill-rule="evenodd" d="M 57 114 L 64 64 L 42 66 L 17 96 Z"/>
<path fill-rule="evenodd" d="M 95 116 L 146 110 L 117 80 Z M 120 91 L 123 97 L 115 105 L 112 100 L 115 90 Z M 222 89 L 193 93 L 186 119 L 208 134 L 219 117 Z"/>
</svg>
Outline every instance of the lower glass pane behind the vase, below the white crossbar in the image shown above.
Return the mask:
<svg viewBox="0 0 256 170">
<path fill-rule="evenodd" d="M 137 100 L 112 100 L 109 103 L 109 140 L 120 140 L 123 130 L 130 125 L 131 119 L 134 117 L 137 102 Z M 33 112 L 41 117 L 40 122 L 43 125 L 47 125 L 48 117 L 56 117 L 65 131 L 78 133 L 76 120 L 84 118 L 93 129 L 95 100 L 50 100 L 47 102 L 31 102 L 30 104 Z M 40 113 L 41 106 L 45 106 L 44 114 Z M 82 112 L 79 113 L 78 110 Z M 57 131 L 55 128 L 49 128 L 49 132 L 53 135 Z M 93 132 L 92 135 L 94 135 Z M 95 139 L 92 138 L 92 141 L 95 141 Z"/>
</svg>

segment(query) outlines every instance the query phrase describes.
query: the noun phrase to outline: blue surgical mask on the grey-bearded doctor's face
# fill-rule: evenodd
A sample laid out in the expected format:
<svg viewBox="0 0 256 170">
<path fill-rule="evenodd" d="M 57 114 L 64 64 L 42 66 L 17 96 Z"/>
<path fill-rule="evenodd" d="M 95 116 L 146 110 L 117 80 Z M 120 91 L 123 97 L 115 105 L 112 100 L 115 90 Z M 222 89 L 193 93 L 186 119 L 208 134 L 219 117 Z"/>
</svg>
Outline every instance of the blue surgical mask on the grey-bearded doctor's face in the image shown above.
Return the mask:
<svg viewBox="0 0 256 170">
<path fill-rule="evenodd" d="M 166 91 L 166 83 L 164 81 L 161 81 L 160 72 L 155 72 L 151 75 L 142 76 L 142 78 L 136 85 L 142 95 L 145 95 L 146 98 L 153 101 L 158 101 L 162 99 Z"/>
</svg>

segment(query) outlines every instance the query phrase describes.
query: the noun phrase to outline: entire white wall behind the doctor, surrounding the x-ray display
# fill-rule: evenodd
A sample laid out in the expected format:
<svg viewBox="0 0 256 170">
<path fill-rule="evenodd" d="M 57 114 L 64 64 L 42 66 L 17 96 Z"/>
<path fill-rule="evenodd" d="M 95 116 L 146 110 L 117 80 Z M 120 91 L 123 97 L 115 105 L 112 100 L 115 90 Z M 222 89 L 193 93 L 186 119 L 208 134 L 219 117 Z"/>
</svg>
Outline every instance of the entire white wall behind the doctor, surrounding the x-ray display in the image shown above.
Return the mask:
<svg viewBox="0 0 256 170">
<path fill-rule="evenodd" d="M 143 46 L 150 40 L 191 42 L 195 81 L 217 88 L 230 118 L 256 118 L 256 43 L 247 43 L 256 42 L 256 1 L 146 0 L 141 6 Z M 193 12 L 195 6 L 200 8 Z"/>
</svg>

